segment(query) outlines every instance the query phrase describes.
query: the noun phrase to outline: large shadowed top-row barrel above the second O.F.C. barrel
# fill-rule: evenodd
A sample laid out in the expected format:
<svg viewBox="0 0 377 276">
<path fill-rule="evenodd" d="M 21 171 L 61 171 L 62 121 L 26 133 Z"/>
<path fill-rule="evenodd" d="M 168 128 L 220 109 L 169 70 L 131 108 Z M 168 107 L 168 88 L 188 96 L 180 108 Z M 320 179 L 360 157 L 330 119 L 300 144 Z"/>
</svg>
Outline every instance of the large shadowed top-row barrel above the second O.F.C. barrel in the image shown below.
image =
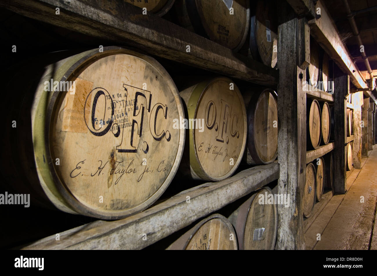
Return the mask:
<svg viewBox="0 0 377 276">
<path fill-rule="evenodd" d="M 245 43 L 250 21 L 247 0 L 176 0 L 179 24 L 186 29 L 238 51 Z"/>
</svg>

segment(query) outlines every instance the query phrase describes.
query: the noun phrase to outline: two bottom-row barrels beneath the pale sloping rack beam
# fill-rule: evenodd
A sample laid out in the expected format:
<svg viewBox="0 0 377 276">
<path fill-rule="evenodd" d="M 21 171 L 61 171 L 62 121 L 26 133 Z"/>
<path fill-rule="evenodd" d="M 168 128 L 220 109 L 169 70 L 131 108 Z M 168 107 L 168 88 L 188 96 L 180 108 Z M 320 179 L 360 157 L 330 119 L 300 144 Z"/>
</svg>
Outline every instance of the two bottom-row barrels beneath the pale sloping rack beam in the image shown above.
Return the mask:
<svg viewBox="0 0 377 276">
<path fill-rule="evenodd" d="M 228 218 L 214 214 L 201 220 L 167 249 L 170 250 L 273 250 L 277 236 L 277 206 L 265 187 L 234 210 Z M 283 198 L 280 204 L 287 203 Z"/>
</svg>

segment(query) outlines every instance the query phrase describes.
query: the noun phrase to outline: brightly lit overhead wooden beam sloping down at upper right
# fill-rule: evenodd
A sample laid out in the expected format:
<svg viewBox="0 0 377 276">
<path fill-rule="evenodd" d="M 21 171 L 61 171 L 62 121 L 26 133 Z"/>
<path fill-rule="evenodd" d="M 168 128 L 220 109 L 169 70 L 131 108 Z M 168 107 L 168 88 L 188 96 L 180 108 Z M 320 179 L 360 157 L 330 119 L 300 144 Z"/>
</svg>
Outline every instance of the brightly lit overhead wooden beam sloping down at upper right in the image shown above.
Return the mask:
<svg viewBox="0 0 377 276">
<path fill-rule="evenodd" d="M 365 83 L 359 69 L 354 65 L 329 11 L 320 0 L 315 5 L 315 9 L 317 8 L 320 8 L 321 17 L 309 21 L 310 34 L 325 49 L 340 69 L 351 76 L 351 81 L 357 88 L 367 88 L 368 85 Z M 335 89 L 337 89 L 336 86 Z"/>
</svg>

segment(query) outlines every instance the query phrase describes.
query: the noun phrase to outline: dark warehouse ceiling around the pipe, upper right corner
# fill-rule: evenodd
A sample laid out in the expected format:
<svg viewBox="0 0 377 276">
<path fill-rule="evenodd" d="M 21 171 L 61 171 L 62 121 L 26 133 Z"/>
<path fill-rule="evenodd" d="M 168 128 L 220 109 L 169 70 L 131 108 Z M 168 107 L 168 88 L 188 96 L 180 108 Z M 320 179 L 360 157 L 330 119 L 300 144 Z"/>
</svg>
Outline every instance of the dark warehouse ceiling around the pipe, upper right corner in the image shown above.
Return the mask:
<svg viewBox="0 0 377 276">
<path fill-rule="evenodd" d="M 347 18 L 347 12 L 343 0 L 323 1 L 331 14 L 343 43 L 351 53 L 356 66 L 365 79 L 369 79 L 365 63 L 360 54 L 357 38 L 353 35 L 351 25 Z M 351 12 L 354 14 L 360 38 L 364 45 L 365 54 L 368 56 L 374 76 L 377 76 L 377 0 L 348 0 Z M 372 9 L 374 8 L 374 9 Z"/>
</svg>

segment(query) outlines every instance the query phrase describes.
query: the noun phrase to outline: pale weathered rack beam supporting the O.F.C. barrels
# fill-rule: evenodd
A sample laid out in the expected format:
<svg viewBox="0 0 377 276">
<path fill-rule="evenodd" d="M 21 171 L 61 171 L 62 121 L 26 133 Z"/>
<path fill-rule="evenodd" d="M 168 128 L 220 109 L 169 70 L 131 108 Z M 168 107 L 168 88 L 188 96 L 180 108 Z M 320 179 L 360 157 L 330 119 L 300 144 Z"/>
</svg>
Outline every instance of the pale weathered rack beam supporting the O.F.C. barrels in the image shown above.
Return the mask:
<svg viewBox="0 0 377 276">
<path fill-rule="evenodd" d="M 278 163 L 255 166 L 183 191 L 132 217 L 95 221 L 60 233 L 60 241 L 52 235 L 23 249 L 143 249 L 278 177 Z"/>
</svg>

